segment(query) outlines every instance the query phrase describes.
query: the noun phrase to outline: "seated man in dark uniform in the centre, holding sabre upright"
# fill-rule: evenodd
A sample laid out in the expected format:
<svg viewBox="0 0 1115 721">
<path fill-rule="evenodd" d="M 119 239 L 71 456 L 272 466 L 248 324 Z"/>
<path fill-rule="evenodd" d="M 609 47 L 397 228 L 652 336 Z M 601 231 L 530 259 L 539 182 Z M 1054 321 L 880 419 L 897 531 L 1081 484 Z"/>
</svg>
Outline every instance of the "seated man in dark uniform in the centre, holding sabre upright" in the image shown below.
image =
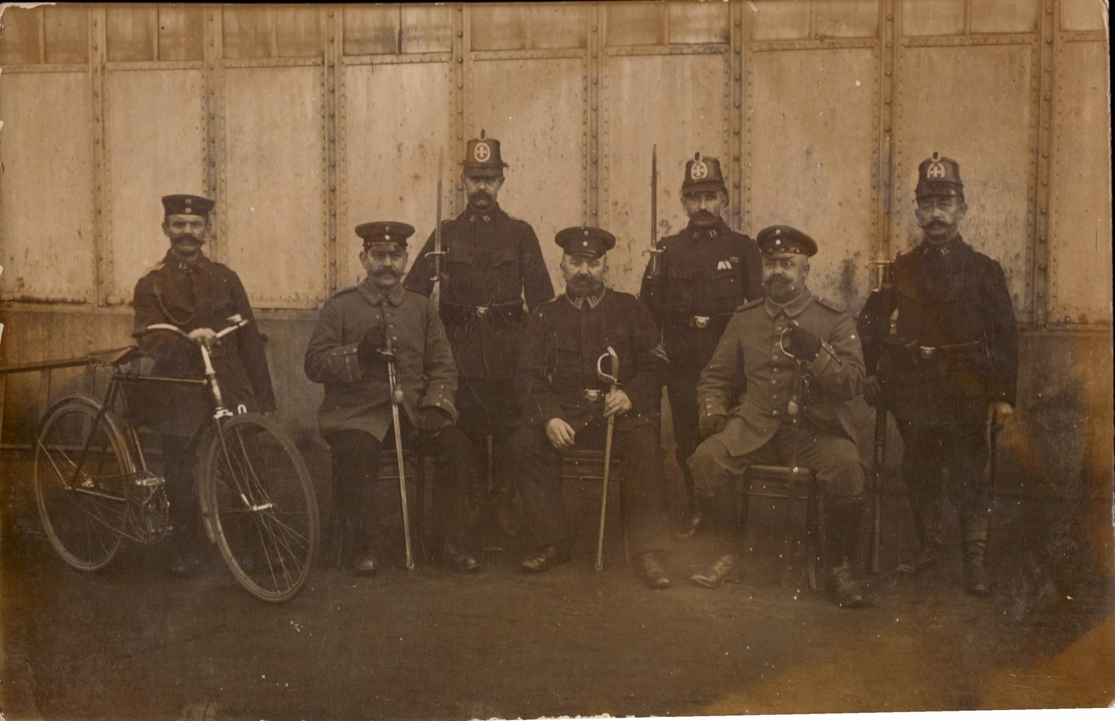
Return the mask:
<svg viewBox="0 0 1115 721">
<path fill-rule="evenodd" d="M 659 419 L 669 362 L 646 306 L 604 285 L 604 253 L 615 238 L 598 228 L 566 228 L 555 241 L 565 251 L 565 294 L 531 315 L 515 377 L 525 422 L 512 436 L 511 459 L 534 544 L 522 567 L 541 573 L 570 559 L 562 456 L 574 448 L 602 448 L 608 419 L 614 417 L 634 570 L 647 586 L 667 588 L 661 556 L 669 547 L 669 529 Z M 598 362 L 609 350 L 619 357 L 615 390 L 598 375 Z"/>
</svg>

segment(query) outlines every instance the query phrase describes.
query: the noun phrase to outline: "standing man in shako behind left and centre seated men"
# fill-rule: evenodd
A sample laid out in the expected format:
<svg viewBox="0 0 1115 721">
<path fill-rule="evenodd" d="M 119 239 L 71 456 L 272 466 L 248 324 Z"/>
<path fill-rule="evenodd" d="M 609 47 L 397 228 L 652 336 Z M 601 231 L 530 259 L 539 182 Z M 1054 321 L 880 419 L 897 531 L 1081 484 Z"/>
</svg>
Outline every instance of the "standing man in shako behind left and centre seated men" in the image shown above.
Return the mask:
<svg viewBox="0 0 1115 721">
<path fill-rule="evenodd" d="M 481 131 L 478 138 L 468 141 L 463 165 L 468 206 L 442 224 L 440 313 L 460 374 L 457 426 L 477 448 L 486 448 L 492 436 L 491 507 L 500 530 L 514 538 L 518 519 L 512 506 L 506 443 L 518 415 L 515 362 L 527 310 L 553 298 L 554 290 L 534 230 L 496 202 L 507 166 L 500 156 L 500 141 Z M 407 275 L 407 288 L 433 291 L 433 250 L 434 233 Z"/>
</svg>

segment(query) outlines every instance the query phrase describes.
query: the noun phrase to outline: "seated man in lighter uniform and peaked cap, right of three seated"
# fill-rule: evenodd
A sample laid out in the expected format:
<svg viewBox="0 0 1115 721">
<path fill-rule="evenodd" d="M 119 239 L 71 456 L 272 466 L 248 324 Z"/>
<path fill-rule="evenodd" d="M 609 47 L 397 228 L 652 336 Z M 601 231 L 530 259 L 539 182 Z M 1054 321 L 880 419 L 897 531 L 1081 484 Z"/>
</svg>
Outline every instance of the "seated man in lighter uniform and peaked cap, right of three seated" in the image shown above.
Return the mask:
<svg viewBox="0 0 1115 721">
<path fill-rule="evenodd" d="M 845 608 L 862 606 L 849 568 L 863 515 L 863 469 L 850 405 L 864 375 L 855 321 L 805 285 L 809 257 L 817 252 L 812 238 L 772 225 L 759 231 L 758 246 L 766 299 L 736 311 L 697 386 L 701 430 L 709 438 L 689 467 L 709 499 L 717 558 L 690 580 L 717 588 L 741 578 L 735 479 L 753 464 L 799 463 L 824 484 L 825 561 L 834 600 Z"/>
</svg>

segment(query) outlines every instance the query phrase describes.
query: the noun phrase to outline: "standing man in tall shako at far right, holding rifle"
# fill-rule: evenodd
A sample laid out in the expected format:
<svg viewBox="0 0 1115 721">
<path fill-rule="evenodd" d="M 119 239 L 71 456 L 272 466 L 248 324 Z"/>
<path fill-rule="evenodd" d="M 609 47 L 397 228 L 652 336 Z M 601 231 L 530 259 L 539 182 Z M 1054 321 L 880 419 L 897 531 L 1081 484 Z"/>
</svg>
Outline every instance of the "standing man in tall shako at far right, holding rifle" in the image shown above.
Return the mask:
<svg viewBox="0 0 1115 721">
<path fill-rule="evenodd" d="M 960 237 L 963 188 L 954 160 L 933 153 L 919 165 L 915 215 L 923 240 L 895 258 L 891 290 L 867 298 L 859 327 L 872 374 L 864 397 L 894 414 L 905 446 L 902 480 L 921 548 L 900 569 L 918 573 L 939 560 L 947 469 L 966 585 L 985 596 L 995 500 L 995 479 L 983 472 L 987 430 L 993 442 L 1014 413 L 1018 331 L 1002 268 Z"/>
</svg>

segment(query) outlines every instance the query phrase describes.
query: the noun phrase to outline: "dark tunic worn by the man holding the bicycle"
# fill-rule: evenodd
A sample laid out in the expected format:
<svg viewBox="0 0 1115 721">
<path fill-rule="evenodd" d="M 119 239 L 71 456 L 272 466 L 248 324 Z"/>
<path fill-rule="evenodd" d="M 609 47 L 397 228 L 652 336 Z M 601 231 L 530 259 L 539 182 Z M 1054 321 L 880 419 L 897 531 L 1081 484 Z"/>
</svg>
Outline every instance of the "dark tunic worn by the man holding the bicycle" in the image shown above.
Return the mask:
<svg viewBox="0 0 1115 721">
<path fill-rule="evenodd" d="M 225 336 L 210 350 L 225 405 L 241 404 L 252 411 L 273 411 L 271 374 L 263 355 L 263 338 L 252 315 L 248 294 L 235 272 L 204 254 L 186 263 L 167 252 L 162 262 L 136 283 L 132 301 L 139 347 L 155 359 L 153 375 L 171 378 L 204 378 L 205 365 L 193 340 L 168 331 L 144 333 L 163 323 L 184 333 L 197 328 L 222 330 L 230 318 L 241 316 L 249 325 Z M 204 387 L 145 384 L 132 394 L 144 403 L 133 408 L 145 425 L 159 433 L 190 436 L 212 413 L 213 396 Z"/>
</svg>

